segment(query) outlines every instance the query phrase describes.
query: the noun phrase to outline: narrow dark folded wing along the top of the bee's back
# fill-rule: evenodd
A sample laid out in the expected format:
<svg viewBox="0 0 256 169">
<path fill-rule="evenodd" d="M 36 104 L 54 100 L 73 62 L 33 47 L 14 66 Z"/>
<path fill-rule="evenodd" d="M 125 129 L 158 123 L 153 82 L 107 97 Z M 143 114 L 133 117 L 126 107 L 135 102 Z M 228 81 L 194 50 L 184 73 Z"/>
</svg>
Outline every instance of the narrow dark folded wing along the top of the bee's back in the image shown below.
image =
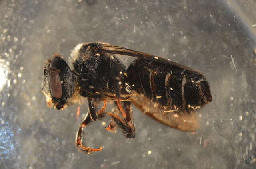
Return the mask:
<svg viewBox="0 0 256 169">
<path fill-rule="evenodd" d="M 96 53 L 127 55 L 127 56 L 137 57 L 137 58 L 140 58 L 140 59 L 154 61 L 154 62 L 165 64 L 165 65 L 171 65 L 171 66 L 174 66 L 174 67 L 179 67 L 179 68 L 186 69 L 186 70 L 189 70 L 189 71 L 194 71 L 194 72 L 197 72 L 197 73 L 202 73 L 198 70 L 192 69 L 190 67 L 182 65 L 180 63 L 176 63 L 174 61 L 169 61 L 168 59 L 164 59 L 162 57 L 150 55 L 148 53 L 143 53 L 143 52 L 140 52 L 140 51 L 134 51 L 132 49 L 126 49 L 126 48 L 120 47 L 120 46 L 101 45 L 99 47 L 96 47 L 94 50 L 95 50 L 94 52 L 96 52 Z"/>
</svg>

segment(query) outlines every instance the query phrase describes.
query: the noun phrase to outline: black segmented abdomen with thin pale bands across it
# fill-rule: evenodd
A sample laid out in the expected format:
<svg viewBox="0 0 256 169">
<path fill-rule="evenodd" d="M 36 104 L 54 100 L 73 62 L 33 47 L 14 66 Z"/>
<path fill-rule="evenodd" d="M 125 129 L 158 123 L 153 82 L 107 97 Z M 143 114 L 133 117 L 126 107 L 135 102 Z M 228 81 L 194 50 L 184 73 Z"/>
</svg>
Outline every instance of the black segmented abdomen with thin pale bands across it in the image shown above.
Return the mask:
<svg viewBox="0 0 256 169">
<path fill-rule="evenodd" d="M 212 101 L 210 86 L 196 71 L 136 59 L 128 67 L 133 90 L 168 110 L 193 110 Z"/>
</svg>

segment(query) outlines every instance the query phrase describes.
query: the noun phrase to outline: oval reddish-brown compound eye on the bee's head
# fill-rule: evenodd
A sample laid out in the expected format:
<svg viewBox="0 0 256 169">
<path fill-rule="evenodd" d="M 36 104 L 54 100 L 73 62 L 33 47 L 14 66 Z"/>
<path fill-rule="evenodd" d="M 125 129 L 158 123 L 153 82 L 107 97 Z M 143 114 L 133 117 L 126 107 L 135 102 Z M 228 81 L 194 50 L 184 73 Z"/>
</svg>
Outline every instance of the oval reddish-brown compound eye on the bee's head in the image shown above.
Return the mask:
<svg viewBox="0 0 256 169">
<path fill-rule="evenodd" d="M 56 67 L 53 69 L 58 70 Z M 54 98 L 62 97 L 62 85 L 60 80 L 60 74 L 58 71 L 50 71 L 49 75 L 50 91 Z"/>
</svg>

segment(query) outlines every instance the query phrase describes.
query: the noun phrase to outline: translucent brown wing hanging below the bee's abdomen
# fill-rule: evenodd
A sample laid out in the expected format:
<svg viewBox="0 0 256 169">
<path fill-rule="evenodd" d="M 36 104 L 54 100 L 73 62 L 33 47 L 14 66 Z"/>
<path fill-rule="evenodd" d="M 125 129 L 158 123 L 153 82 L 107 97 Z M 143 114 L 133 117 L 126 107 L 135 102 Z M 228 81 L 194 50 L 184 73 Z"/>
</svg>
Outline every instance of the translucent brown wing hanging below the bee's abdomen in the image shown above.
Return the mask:
<svg viewBox="0 0 256 169">
<path fill-rule="evenodd" d="M 164 111 L 161 105 L 156 104 L 144 96 L 138 96 L 132 104 L 150 118 L 172 128 L 186 132 L 194 132 L 199 128 L 196 112 L 181 112 L 175 110 Z"/>
</svg>

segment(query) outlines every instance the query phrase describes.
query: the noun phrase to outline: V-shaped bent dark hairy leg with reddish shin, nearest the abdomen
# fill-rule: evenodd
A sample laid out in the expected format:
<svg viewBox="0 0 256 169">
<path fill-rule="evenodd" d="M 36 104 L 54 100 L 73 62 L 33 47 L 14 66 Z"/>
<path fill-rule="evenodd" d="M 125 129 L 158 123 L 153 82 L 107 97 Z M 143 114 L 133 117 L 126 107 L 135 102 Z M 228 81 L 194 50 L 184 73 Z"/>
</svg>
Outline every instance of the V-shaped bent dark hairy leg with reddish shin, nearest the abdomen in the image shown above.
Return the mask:
<svg viewBox="0 0 256 169">
<path fill-rule="evenodd" d="M 116 102 L 115 102 L 116 103 Z M 124 109 L 126 113 L 126 118 L 120 118 L 120 116 L 117 116 L 113 113 L 108 113 L 116 122 L 116 124 L 120 127 L 126 138 L 135 138 L 135 126 L 133 123 L 133 114 L 132 114 L 132 107 L 131 102 L 125 101 L 123 102 Z M 117 103 L 116 103 L 117 106 Z M 119 109 L 119 107 L 117 106 Z"/>
</svg>

